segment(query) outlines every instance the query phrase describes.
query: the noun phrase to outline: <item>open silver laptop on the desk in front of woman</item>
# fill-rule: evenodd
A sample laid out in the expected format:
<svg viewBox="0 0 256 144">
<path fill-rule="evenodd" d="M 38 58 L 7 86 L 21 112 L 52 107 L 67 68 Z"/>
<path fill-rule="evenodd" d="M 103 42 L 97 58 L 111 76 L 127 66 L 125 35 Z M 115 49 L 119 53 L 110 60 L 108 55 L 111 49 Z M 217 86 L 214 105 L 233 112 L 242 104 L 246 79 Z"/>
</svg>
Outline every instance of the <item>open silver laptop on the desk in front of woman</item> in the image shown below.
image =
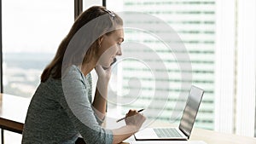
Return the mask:
<svg viewBox="0 0 256 144">
<path fill-rule="evenodd" d="M 189 98 L 186 107 L 183 110 L 183 116 L 178 128 L 146 128 L 137 132 L 134 136 L 136 140 L 189 140 L 195 117 L 201 104 L 201 98 L 204 90 L 191 86 Z"/>
</svg>

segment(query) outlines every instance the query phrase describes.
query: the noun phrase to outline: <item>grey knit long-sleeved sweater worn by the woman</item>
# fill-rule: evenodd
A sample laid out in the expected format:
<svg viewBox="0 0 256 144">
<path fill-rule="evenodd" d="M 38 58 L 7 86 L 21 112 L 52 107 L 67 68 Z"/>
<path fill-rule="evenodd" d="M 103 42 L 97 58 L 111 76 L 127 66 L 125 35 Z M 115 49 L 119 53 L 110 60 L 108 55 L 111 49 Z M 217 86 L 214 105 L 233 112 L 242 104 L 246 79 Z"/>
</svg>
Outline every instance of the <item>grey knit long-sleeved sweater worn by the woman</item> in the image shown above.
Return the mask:
<svg viewBox="0 0 256 144">
<path fill-rule="evenodd" d="M 84 77 L 78 66 L 71 66 L 62 80 L 49 78 L 32 97 L 22 143 L 71 144 L 79 134 L 87 144 L 112 143 L 112 131 L 102 129 L 91 102 L 90 74 Z"/>
</svg>

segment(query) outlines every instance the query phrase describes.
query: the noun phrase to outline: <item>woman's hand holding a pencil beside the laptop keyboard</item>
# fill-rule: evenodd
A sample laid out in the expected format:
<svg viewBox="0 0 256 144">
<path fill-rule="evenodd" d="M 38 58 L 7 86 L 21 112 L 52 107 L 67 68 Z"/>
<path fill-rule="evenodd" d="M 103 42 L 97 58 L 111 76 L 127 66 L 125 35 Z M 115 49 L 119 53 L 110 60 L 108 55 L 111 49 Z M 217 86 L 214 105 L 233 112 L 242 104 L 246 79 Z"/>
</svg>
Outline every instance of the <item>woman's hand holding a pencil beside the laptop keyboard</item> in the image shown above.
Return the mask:
<svg viewBox="0 0 256 144">
<path fill-rule="evenodd" d="M 126 113 L 125 117 L 126 125 L 135 126 L 136 131 L 138 131 L 142 127 L 143 123 L 146 120 L 143 114 L 137 112 L 137 110 L 130 110 L 128 113 Z"/>
</svg>

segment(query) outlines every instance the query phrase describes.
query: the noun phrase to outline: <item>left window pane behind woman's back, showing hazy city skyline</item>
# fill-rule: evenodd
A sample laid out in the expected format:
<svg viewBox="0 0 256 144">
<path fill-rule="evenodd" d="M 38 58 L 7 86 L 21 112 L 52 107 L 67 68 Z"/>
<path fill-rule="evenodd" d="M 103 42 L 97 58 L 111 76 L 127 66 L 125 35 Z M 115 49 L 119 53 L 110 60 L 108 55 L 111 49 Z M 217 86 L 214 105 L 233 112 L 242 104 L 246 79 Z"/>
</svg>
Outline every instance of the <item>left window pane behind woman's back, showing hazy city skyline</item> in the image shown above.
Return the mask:
<svg viewBox="0 0 256 144">
<path fill-rule="evenodd" d="M 31 97 L 73 24 L 73 1 L 2 0 L 3 92 Z"/>
</svg>

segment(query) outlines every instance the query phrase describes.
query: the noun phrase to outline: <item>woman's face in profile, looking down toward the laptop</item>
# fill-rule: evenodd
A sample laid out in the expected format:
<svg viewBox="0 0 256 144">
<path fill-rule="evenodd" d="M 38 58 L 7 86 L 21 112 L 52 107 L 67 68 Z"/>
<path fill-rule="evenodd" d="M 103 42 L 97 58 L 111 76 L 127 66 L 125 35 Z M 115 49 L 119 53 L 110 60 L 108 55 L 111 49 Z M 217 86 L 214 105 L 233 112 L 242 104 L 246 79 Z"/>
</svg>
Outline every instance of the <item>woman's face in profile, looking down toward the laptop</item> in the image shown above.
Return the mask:
<svg viewBox="0 0 256 144">
<path fill-rule="evenodd" d="M 121 43 L 124 41 L 123 29 L 115 30 L 109 35 L 104 35 L 99 48 L 97 65 L 109 67 L 116 55 L 122 55 Z"/>
</svg>

